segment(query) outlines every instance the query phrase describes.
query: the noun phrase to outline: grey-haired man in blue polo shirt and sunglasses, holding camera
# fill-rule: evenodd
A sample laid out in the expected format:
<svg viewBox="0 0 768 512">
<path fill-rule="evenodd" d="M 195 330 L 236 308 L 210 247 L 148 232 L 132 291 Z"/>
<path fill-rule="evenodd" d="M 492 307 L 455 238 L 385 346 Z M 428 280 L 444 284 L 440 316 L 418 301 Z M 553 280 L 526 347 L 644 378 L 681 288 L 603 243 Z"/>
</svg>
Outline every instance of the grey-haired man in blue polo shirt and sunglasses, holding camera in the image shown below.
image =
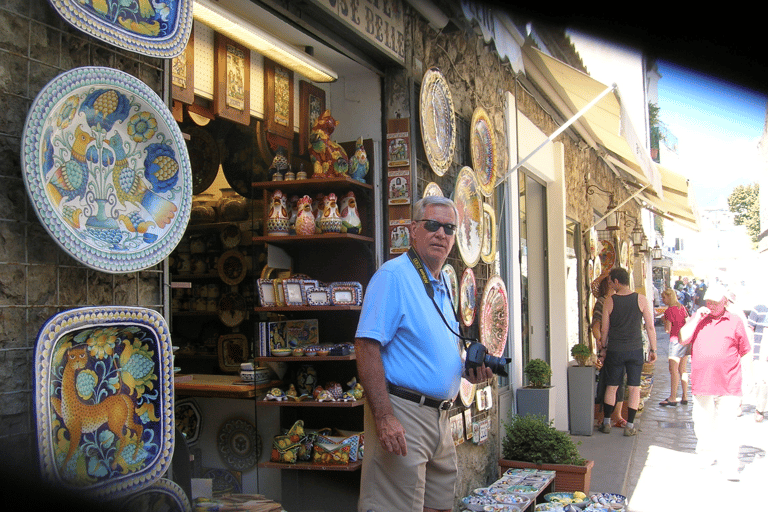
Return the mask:
<svg viewBox="0 0 768 512">
<path fill-rule="evenodd" d="M 458 321 L 442 268 L 458 214 L 448 198 L 414 205 L 411 251 L 371 278 L 355 334 L 366 392 L 366 436 L 359 512 L 453 509 L 456 450 L 448 410 L 463 363 Z M 471 382 L 493 376 L 482 366 Z"/>
</svg>

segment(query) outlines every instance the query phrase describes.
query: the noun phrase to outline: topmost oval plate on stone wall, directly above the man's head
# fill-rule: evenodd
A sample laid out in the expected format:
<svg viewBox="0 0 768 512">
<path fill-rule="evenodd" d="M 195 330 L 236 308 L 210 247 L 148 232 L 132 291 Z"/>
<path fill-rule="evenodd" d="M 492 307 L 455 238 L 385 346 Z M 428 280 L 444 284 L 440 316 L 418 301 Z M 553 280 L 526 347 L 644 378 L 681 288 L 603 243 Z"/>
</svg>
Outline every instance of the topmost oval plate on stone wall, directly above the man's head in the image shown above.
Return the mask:
<svg viewBox="0 0 768 512">
<path fill-rule="evenodd" d="M 421 138 L 427 161 L 438 176 L 445 174 L 456 147 L 456 119 L 448 81 L 438 68 L 430 68 L 421 82 Z"/>
</svg>

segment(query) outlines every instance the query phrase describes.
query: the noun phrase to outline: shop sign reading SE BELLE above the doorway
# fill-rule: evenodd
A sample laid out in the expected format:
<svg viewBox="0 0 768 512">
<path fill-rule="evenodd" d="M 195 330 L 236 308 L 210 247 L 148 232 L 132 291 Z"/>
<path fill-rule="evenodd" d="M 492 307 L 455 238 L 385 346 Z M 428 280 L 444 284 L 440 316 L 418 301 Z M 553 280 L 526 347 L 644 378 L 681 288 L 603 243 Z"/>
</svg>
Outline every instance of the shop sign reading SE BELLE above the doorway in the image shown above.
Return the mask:
<svg viewBox="0 0 768 512">
<path fill-rule="evenodd" d="M 405 62 L 402 0 L 312 0 L 395 59 Z"/>
</svg>

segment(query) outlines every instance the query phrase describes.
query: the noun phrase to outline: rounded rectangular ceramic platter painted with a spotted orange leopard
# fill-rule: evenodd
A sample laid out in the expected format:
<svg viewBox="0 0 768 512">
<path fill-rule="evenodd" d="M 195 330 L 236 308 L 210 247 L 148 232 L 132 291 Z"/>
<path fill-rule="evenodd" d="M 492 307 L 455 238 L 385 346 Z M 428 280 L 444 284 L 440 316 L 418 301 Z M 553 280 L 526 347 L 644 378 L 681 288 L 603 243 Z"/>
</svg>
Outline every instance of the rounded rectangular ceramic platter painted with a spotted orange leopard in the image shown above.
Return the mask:
<svg viewBox="0 0 768 512">
<path fill-rule="evenodd" d="M 87 307 L 42 327 L 35 348 L 40 469 L 56 486 L 118 498 L 171 463 L 173 349 L 156 311 Z"/>
</svg>

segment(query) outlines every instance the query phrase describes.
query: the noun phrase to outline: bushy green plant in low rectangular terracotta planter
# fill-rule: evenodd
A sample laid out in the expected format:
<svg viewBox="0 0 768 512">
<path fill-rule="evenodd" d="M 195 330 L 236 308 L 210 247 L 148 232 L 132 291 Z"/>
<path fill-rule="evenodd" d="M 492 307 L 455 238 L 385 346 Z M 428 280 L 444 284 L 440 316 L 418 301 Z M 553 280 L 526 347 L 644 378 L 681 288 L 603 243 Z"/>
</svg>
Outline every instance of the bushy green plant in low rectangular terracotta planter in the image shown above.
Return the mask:
<svg viewBox="0 0 768 512">
<path fill-rule="evenodd" d="M 579 443 L 580 444 L 580 443 Z M 585 460 L 578 445 L 543 416 L 510 414 L 504 423 L 499 466 L 555 471 L 557 491 L 589 494 L 593 460 Z"/>
</svg>

